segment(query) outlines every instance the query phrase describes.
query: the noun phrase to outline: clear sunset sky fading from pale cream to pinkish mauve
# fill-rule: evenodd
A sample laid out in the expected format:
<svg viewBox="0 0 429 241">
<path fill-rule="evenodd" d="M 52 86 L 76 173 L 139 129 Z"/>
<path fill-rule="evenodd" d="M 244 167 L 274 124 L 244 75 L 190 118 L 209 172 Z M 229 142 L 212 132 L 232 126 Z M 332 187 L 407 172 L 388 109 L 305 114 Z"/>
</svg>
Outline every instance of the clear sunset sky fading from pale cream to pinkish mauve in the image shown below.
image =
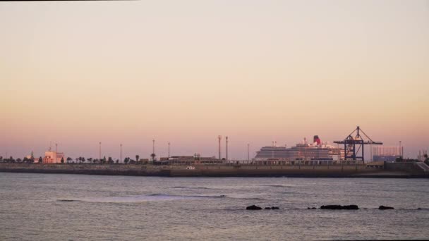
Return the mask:
<svg viewBox="0 0 429 241">
<path fill-rule="evenodd" d="M 429 147 L 429 1 L 1 2 L 0 30 L 0 156 Z"/>
</svg>

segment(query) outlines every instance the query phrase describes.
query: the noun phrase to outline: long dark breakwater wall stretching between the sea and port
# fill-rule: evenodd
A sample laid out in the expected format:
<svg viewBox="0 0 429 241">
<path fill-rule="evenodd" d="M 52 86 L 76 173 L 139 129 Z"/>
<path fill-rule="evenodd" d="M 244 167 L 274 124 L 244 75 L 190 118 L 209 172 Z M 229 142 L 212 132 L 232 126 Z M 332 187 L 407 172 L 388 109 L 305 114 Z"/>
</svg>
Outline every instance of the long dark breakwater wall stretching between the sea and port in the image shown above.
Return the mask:
<svg viewBox="0 0 429 241">
<path fill-rule="evenodd" d="M 405 166 L 404 166 L 405 165 Z M 0 163 L 0 172 L 69 173 L 88 175 L 138 175 L 166 177 L 356 177 L 356 178 L 428 178 L 428 173 L 411 168 L 413 163 L 400 166 L 370 167 L 349 165 L 243 165 L 216 164 L 187 166 L 90 164 L 90 163 Z"/>
</svg>

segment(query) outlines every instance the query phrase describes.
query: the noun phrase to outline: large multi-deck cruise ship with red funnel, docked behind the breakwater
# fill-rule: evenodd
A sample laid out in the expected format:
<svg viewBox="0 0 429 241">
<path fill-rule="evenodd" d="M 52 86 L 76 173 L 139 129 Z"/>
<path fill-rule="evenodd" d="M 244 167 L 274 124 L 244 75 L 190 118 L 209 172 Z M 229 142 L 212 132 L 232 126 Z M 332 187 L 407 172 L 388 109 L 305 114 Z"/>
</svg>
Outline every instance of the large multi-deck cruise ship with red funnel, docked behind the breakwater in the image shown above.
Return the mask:
<svg viewBox="0 0 429 241">
<path fill-rule="evenodd" d="M 318 135 L 313 137 L 313 143 L 306 138 L 295 147 L 278 147 L 275 142 L 272 146 L 262 147 L 256 152 L 253 161 L 340 161 L 344 160 L 344 149 L 334 147 L 320 141 Z"/>
</svg>

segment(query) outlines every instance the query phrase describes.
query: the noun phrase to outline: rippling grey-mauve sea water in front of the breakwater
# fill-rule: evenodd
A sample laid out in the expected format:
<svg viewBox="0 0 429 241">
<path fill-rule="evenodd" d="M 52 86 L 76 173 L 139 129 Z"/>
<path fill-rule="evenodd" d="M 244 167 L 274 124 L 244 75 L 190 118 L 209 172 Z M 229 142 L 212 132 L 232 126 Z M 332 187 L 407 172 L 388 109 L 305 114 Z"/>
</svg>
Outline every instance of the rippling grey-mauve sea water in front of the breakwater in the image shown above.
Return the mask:
<svg viewBox="0 0 429 241">
<path fill-rule="evenodd" d="M 307 209 L 325 204 L 361 209 Z M 425 238 L 427 179 L 0 173 L 0 240 Z"/>
</svg>

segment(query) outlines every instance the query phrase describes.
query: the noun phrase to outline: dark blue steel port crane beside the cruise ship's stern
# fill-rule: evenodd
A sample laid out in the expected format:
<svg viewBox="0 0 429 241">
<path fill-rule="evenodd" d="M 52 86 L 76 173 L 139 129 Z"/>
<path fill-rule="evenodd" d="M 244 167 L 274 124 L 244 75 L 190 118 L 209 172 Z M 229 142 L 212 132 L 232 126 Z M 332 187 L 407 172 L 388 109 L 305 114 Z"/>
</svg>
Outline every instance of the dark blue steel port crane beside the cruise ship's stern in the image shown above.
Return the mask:
<svg viewBox="0 0 429 241">
<path fill-rule="evenodd" d="M 363 135 L 361 135 L 361 133 Z M 363 139 L 366 137 L 366 140 Z M 374 142 L 368 135 L 363 132 L 359 126 L 341 141 L 334 141 L 337 144 L 344 144 L 344 159 L 345 160 L 358 160 L 365 161 L 363 147 L 365 144 L 383 144 L 383 142 Z"/>
</svg>

